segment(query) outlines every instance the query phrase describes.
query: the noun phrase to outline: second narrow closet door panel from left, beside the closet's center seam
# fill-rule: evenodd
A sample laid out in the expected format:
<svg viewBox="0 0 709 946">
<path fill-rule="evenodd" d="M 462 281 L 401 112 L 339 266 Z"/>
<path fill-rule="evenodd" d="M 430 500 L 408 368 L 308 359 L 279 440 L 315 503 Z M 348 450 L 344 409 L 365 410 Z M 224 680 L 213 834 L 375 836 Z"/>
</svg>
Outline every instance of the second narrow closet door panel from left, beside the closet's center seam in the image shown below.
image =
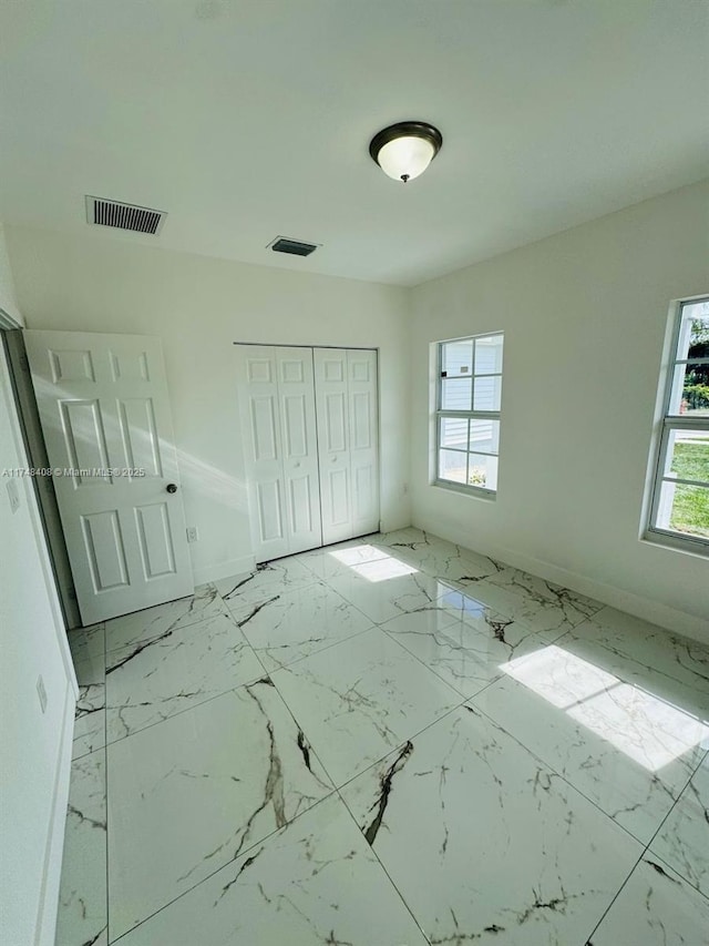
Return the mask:
<svg viewBox="0 0 709 946">
<path fill-rule="evenodd" d="M 322 545 L 311 348 L 278 348 L 278 394 L 288 552 Z"/>
</svg>

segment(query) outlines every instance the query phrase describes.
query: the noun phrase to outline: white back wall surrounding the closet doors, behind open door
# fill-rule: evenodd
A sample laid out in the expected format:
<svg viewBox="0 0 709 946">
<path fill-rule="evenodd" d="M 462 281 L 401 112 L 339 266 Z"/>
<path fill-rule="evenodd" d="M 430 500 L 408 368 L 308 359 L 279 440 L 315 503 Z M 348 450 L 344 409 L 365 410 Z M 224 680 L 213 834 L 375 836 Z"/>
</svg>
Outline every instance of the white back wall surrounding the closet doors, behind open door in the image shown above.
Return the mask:
<svg viewBox="0 0 709 946">
<path fill-rule="evenodd" d="M 409 523 L 408 295 L 395 286 L 292 273 L 49 231 L 8 227 L 29 328 L 163 340 L 195 578 L 251 561 L 234 342 L 378 347 L 381 519 Z"/>
</svg>

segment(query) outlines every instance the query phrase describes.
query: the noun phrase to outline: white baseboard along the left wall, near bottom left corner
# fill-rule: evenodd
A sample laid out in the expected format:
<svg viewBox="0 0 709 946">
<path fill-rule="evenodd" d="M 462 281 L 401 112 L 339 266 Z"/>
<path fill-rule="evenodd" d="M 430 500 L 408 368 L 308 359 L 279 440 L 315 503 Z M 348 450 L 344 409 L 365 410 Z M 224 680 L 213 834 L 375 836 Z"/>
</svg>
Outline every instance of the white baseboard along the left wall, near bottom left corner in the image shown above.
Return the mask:
<svg viewBox="0 0 709 946">
<path fill-rule="evenodd" d="M 66 826 L 66 805 L 69 803 L 69 782 L 71 779 L 74 711 L 75 700 L 73 688 L 68 681 L 62 733 L 56 756 L 52 810 L 48 826 L 44 867 L 42 871 L 42 889 L 40 893 L 37 926 L 34 928 L 34 946 L 54 946 L 59 885 L 62 871 L 62 854 L 64 851 L 64 828 Z"/>
</svg>

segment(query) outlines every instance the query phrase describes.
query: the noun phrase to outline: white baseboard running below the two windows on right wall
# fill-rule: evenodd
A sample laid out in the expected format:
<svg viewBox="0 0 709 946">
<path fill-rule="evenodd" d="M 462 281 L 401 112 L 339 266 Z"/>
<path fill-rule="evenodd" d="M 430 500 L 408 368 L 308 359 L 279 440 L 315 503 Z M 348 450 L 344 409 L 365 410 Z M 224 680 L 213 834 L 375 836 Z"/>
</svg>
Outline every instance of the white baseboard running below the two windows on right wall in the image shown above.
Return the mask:
<svg viewBox="0 0 709 946">
<path fill-rule="evenodd" d="M 438 528 L 436 525 L 430 526 L 420 519 L 414 521 L 413 525 L 418 529 L 424 529 L 432 536 L 439 536 L 449 542 L 471 548 L 470 537 L 462 529 L 455 535 L 455 530 L 443 530 Z M 443 535 L 444 531 L 448 531 L 448 535 Z M 507 548 L 486 545 L 484 549 L 473 548 L 472 551 L 500 559 L 500 561 L 504 561 L 514 568 L 520 568 L 523 571 L 528 571 L 531 574 L 544 578 L 546 581 L 563 584 L 565 588 L 571 588 L 579 594 L 595 598 L 597 601 L 603 601 L 604 604 L 617 608 L 619 611 L 625 611 L 653 624 L 658 624 L 660 628 L 672 633 L 682 634 L 684 637 L 709 644 L 709 622 L 702 618 L 698 618 L 696 614 L 688 614 L 686 611 L 679 611 L 676 608 L 662 604 L 661 601 L 643 598 L 631 591 L 616 588 L 614 584 L 596 581 L 595 579 L 587 578 L 585 574 L 569 571 L 533 556 L 514 552 Z"/>
</svg>

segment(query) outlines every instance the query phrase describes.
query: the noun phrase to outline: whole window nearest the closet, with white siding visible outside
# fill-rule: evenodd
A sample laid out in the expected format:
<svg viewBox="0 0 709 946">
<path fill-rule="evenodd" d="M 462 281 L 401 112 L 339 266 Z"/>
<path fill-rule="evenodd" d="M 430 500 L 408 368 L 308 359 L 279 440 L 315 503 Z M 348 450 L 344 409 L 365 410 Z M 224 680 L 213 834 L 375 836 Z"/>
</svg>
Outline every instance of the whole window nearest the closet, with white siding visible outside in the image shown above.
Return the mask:
<svg viewBox="0 0 709 946">
<path fill-rule="evenodd" d="M 501 333 L 439 343 L 436 482 L 497 489 L 502 344 Z"/>
</svg>

